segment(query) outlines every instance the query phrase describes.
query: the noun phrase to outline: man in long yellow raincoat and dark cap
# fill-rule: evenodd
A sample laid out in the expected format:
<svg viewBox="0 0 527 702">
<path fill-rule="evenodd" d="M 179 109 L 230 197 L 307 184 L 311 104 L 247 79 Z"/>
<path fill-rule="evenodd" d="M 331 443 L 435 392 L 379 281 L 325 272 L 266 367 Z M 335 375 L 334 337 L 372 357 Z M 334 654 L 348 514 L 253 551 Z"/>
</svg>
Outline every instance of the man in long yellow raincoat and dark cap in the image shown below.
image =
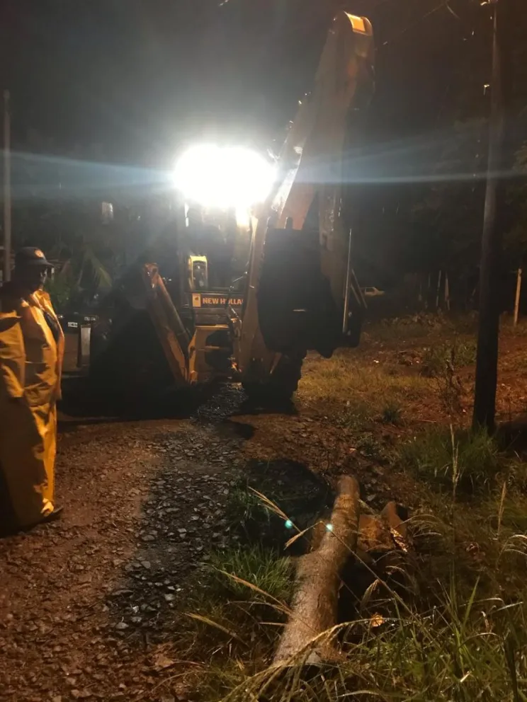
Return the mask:
<svg viewBox="0 0 527 702">
<path fill-rule="evenodd" d="M 64 334 L 42 290 L 49 269 L 42 251 L 28 246 L 16 253 L 13 280 L 0 288 L 1 503 L 14 529 L 60 512 L 54 473 Z"/>
</svg>

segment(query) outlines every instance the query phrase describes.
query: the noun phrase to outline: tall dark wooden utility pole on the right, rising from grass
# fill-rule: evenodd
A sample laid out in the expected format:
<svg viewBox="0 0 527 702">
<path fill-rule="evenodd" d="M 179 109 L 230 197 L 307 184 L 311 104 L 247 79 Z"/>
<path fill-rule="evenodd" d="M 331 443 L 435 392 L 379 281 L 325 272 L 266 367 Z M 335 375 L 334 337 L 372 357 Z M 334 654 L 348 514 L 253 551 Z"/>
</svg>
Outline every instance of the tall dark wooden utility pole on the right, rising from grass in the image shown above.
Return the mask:
<svg viewBox="0 0 527 702">
<path fill-rule="evenodd" d="M 508 0 L 494 0 L 492 9 L 492 83 L 489 121 L 487 192 L 480 263 L 480 306 L 477 333 L 474 427 L 494 430 L 499 345 L 499 270 L 502 263 L 502 231 L 497 221 L 497 190 L 503 161 L 504 70 L 502 49 L 506 42 L 504 8 Z"/>
</svg>

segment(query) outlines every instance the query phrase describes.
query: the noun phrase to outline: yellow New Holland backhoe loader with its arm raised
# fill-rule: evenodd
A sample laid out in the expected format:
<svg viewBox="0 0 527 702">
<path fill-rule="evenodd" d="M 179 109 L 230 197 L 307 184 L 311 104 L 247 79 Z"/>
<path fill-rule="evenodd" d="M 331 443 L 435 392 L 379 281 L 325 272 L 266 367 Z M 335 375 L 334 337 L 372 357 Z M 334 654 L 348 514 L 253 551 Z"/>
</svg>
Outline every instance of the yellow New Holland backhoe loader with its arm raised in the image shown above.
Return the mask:
<svg viewBox="0 0 527 702">
<path fill-rule="evenodd" d="M 286 401 L 308 350 L 330 357 L 358 345 L 365 301 L 346 180 L 373 64 L 369 21 L 339 13 L 266 199 L 245 221 L 232 202 L 183 203 L 171 253 L 132 267 L 92 328 L 94 380 L 120 392 L 222 379 L 258 401 Z"/>
</svg>

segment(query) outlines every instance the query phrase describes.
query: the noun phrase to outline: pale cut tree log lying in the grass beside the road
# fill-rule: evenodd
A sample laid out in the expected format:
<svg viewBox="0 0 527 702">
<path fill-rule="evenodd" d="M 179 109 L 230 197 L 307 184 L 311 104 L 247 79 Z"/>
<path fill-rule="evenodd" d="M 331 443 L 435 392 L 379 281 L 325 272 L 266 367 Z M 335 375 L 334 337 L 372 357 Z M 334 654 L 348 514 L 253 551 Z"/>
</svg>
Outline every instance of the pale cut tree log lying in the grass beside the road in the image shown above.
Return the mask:
<svg viewBox="0 0 527 702">
<path fill-rule="evenodd" d="M 355 478 L 341 476 L 331 520 L 319 547 L 299 559 L 292 613 L 278 645 L 275 663 L 283 664 L 309 650 L 309 644 L 336 625 L 341 570 L 355 551 L 360 516 Z M 336 656 L 330 640 L 317 640 L 307 664 Z"/>
</svg>

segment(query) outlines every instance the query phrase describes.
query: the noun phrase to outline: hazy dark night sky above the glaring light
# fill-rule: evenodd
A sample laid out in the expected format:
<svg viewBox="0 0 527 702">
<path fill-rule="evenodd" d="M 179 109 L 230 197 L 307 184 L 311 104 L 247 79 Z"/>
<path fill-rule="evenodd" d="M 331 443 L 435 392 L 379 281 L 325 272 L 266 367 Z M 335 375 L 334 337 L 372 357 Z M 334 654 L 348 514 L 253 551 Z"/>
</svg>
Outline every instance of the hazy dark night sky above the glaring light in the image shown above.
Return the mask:
<svg viewBox="0 0 527 702">
<path fill-rule="evenodd" d="M 219 1 L 2 0 L 1 79 L 13 95 L 16 144 L 27 146 L 33 129 L 53 151 L 77 144 L 89 156 L 98 144 L 99 158 L 157 165 L 202 130 L 268 139 L 310 89 L 339 3 Z M 470 0 L 451 2 L 462 22 L 444 4 L 433 11 L 440 4 L 341 4 L 374 23 L 377 139 L 438 124 L 471 26 Z"/>
</svg>

